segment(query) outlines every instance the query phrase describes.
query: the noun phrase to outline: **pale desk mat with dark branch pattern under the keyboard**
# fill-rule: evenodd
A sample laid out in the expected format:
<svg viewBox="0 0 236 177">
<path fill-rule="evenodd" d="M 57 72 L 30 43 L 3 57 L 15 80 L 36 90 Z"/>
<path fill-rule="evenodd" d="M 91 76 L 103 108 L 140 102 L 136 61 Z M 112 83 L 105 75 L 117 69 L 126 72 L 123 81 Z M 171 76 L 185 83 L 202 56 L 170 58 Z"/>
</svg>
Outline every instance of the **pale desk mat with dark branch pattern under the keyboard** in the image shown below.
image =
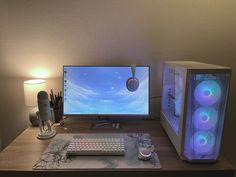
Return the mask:
<svg viewBox="0 0 236 177">
<path fill-rule="evenodd" d="M 86 137 L 88 134 L 57 134 L 41 158 L 33 166 L 34 170 L 97 170 L 97 169 L 158 169 L 161 164 L 156 152 L 148 161 L 138 159 L 139 147 L 150 147 L 151 139 L 147 133 L 104 134 L 104 136 L 123 137 L 124 156 L 67 156 L 66 149 L 73 137 Z M 101 136 L 102 134 L 99 134 Z M 89 136 L 98 136 L 89 134 Z"/>
</svg>

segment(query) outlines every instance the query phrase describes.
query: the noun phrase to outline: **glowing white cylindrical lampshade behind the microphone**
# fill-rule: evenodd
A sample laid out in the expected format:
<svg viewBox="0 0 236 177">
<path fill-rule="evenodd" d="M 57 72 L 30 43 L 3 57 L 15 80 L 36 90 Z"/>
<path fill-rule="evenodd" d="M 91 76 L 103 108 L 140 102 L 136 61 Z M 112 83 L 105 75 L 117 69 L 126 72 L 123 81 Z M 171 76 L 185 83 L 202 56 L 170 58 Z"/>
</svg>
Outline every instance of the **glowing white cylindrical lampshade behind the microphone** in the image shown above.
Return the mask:
<svg viewBox="0 0 236 177">
<path fill-rule="evenodd" d="M 33 79 L 24 81 L 25 105 L 37 106 L 37 94 L 46 90 L 46 81 Z"/>
</svg>

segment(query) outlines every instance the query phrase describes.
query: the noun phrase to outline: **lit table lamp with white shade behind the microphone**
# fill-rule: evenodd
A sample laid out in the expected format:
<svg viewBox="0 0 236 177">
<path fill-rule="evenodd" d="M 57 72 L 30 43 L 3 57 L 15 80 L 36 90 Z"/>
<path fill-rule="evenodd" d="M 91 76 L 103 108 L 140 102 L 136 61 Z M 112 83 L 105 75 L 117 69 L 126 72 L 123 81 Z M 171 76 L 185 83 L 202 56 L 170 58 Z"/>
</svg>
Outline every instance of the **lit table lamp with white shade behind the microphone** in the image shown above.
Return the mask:
<svg viewBox="0 0 236 177">
<path fill-rule="evenodd" d="M 42 79 L 32 79 L 24 81 L 24 95 L 25 95 L 25 105 L 32 107 L 29 112 L 29 120 L 32 126 L 39 125 L 39 119 L 37 117 L 37 94 L 40 91 L 46 90 L 46 81 Z"/>
</svg>

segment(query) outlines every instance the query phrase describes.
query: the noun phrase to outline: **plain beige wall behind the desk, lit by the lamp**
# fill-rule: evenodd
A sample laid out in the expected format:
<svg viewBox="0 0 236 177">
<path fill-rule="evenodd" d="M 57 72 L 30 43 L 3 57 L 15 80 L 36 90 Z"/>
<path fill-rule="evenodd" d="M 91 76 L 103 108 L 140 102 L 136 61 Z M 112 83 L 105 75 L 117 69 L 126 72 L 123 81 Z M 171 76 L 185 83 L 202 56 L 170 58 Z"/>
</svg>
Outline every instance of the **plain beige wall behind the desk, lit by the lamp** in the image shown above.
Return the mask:
<svg viewBox="0 0 236 177">
<path fill-rule="evenodd" d="M 197 60 L 233 68 L 223 151 L 236 165 L 235 9 L 235 0 L 1 0 L 3 144 L 28 125 L 22 81 L 41 69 L 57 87 L 63 64 L 149 64 L 154 96 L 163 61 Z"/>
</svg>

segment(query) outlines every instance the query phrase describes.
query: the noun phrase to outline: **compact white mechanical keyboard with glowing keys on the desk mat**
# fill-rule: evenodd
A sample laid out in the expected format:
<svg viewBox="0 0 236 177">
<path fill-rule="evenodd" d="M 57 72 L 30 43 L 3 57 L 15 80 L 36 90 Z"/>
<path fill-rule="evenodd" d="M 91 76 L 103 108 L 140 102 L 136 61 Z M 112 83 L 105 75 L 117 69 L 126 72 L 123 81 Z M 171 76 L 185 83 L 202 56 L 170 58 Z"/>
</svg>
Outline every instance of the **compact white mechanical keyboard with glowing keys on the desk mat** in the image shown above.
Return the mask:
<svg viewBox="0 0 236 177">
<path fill-rule="evenodd" d="M 67 155 L 124 155 L 124 138 L 74 137 L 67 148 Z"/>
</svg>

